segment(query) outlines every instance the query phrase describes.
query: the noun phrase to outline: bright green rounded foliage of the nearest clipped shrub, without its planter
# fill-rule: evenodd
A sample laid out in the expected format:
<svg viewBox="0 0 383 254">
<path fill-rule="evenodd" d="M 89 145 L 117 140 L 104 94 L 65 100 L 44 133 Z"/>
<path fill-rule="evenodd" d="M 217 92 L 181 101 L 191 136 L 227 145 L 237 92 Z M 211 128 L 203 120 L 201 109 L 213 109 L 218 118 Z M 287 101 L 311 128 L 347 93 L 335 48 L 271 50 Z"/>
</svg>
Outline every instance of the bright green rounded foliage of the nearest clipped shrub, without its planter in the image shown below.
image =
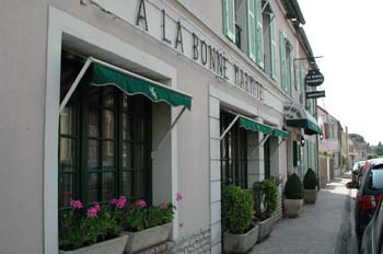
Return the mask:
<svg viewBox="0 0 383 254">
<path fill-rule="evenodd" d="M 222 224 L 230 233 L 245 233 L 251 229 L 254 217 L 251 193 L 228 185 L 222 192 Z"/>
</svg>

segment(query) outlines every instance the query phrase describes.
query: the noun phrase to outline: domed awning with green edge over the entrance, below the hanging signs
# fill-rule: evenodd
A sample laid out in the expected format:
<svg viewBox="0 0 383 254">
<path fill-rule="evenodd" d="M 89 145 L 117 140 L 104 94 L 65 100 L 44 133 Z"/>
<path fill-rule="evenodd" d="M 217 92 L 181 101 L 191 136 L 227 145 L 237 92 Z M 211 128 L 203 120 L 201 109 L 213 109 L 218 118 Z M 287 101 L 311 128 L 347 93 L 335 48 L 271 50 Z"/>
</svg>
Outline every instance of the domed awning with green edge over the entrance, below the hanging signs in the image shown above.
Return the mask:
<svg viewBox="0 0 383 254">
<path fill-rule="evenodd" d="M 289 127 L 303 128 L 306 135 L 321 134 L 321 127 L 316 119 L 301 105 L 285 105 L 286 125 Z"/>
</svg>

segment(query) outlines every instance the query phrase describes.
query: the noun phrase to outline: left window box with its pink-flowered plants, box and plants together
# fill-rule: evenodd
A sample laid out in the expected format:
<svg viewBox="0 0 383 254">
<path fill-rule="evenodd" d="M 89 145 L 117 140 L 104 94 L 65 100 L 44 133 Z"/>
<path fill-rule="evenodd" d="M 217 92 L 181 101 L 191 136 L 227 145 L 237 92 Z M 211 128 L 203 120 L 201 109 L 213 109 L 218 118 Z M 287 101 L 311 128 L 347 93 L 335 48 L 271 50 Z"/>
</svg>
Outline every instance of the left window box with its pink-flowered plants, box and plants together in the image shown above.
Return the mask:
<svg viewBox="0 0 383 254">
<path fill-rule="evenodd" d="M 89 209 L 80 200 L 60 215 L 59 249 L 61 254 L 121 254 L 127 235 L 106 207 L 94 204 Z"/>
</svg>

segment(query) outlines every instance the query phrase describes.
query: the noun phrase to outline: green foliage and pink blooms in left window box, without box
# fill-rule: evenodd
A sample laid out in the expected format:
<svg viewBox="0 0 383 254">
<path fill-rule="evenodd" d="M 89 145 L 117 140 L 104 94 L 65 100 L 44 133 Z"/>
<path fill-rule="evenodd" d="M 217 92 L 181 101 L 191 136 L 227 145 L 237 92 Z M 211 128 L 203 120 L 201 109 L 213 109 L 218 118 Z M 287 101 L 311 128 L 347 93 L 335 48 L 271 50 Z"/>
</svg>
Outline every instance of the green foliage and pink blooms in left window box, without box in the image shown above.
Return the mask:
<svg viewBox="0 0 383 254">
<path fill-rule="evenodd" d="M 71 200 L 70 206 L 60 213 L 60 250 L 80 249 L 120 234 L 123 228 L 106 207 L 95 203 L 86 210 L 80 200 Z"/>
</svg>

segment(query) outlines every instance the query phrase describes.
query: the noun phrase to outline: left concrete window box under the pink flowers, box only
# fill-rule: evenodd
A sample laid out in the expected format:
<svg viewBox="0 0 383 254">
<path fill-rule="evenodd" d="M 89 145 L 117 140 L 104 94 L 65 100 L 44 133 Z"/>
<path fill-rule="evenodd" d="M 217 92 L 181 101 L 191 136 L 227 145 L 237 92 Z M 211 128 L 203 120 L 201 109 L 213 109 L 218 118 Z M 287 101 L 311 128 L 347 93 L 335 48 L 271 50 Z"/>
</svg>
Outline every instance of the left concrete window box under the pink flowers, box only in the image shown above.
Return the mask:
<svg viewBox="0 0 383 254">
<path fill-rule="evenodd" d="M 128 235 L 111 239 L 73 251 L 59 251 L 60 254 L 123 254 Z"/>
</svg>

